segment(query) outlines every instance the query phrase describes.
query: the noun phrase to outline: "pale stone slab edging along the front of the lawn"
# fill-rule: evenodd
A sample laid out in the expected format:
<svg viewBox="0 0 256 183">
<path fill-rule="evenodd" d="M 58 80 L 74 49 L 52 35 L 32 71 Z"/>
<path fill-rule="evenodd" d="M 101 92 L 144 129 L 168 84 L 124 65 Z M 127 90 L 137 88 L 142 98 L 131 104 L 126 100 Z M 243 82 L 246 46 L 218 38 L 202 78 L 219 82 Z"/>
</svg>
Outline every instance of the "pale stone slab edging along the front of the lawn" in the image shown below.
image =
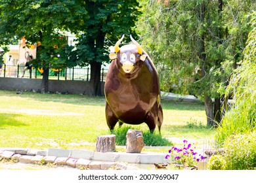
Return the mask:
<svg viewBox="0 0 256 183">
<path fill-rule="evenodd" d="M 20 163 L 54 163 L 77 169 L 137 169 L 129 163 L 167 163 L 164 153 L 92 152 L 89 150 L 30 150 L 26 148 L 0 148 L 1 159 L 14 159 Z"/>
</svg>

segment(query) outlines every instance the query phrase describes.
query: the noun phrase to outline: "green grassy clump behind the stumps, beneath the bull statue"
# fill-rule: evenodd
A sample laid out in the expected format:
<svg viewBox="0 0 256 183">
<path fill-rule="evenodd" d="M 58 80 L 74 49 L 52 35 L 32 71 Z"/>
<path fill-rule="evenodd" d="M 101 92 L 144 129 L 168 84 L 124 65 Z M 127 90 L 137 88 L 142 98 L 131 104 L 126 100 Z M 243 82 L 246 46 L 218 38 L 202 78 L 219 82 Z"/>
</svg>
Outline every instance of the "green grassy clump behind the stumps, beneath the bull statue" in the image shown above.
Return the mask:
<svg viewBox="0 0 256 183">
<path fill-rule="evenodd" d="M 133 129 L 132 126 L 121 126 L 114 129 L 113 134 L 116 135 L 116 144 L 123 146 L 126 144 L 126 134 L 129 129 Z M 156 133 L 150 133 L 150 131 L 142 131 L 143 141 L 146 146 L 170 146 L 172 143 L 167 139 L 161 137 Z"/>
</svg>

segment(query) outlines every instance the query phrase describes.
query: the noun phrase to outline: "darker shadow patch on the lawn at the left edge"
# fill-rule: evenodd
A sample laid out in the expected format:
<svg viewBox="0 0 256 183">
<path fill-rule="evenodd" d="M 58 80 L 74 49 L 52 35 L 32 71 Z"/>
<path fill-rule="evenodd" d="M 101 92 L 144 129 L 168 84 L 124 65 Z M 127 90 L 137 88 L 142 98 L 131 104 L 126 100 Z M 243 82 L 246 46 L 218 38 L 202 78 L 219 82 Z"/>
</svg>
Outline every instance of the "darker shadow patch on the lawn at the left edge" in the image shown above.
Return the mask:
<svg viewBox="0 0 256 183">
<path fill-rule="evenodd" d="M 18 116 L 22 116 L 22 114 L 7 114 L 7 113 L 1 113 L 0 114 L 0 130 L 5 129 L 5 126 L 26 126 L 27 124 L 23 124 L 16 120 L 15 118 Z"/>
</svg>

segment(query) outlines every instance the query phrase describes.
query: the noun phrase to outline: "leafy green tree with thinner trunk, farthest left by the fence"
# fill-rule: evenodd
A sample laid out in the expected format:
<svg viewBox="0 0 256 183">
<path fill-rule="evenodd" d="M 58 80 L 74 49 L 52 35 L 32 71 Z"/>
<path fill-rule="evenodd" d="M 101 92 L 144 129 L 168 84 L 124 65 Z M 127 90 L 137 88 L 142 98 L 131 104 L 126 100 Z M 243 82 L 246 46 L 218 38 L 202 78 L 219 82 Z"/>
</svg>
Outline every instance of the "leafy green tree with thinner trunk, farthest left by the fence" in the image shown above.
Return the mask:
<svg viewBox="0 0 256 183">
<path fill-rule="evenodd" d="M 0 43 L 9 44 L 11 37 L 24 37 L 29 44 L 39 43 L 37 57 L 33 67 L 42 67 L 42 92 L 48 90 L 49 67 L 66 67 L 71 63 L 67 59 L 65 37 L 61 30 L 83 24 L 87 11 L 85 1 L 34 1 L 0 0 Z"/>
</svg>

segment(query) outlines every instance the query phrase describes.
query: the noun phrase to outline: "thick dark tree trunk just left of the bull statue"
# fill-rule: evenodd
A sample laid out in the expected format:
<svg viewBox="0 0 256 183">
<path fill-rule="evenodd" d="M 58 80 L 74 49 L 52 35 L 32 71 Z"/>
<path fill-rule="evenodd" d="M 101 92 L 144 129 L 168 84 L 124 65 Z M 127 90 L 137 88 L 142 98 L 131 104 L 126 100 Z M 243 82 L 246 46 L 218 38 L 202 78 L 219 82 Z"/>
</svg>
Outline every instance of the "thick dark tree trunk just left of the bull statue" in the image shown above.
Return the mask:
<svg viewBox="0 0 256 183">
<path fill-rule="evenodd" d="M 92 96 L 100 96 L 101 95 L 100 71 L 101 71 L 101 63 L 100 62 L 91 63 L 90 95 L 92 95 Z"/>
</svg>

